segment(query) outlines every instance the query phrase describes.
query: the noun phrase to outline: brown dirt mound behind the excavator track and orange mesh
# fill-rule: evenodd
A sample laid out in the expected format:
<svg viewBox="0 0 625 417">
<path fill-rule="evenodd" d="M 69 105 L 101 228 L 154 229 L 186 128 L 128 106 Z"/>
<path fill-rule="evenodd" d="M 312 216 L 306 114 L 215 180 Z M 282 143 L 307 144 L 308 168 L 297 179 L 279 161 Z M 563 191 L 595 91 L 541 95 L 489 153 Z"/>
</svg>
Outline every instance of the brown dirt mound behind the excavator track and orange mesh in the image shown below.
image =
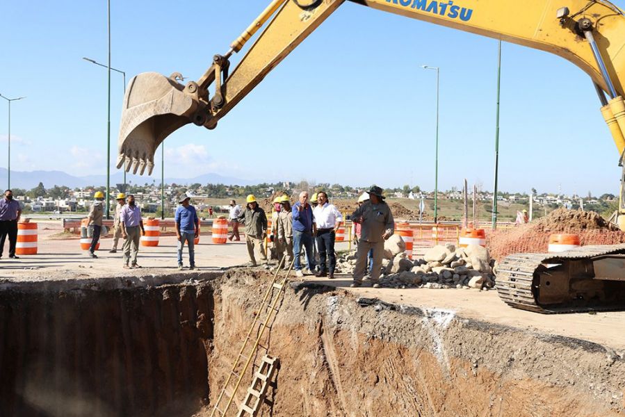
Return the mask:
<svg viewBox="0 0 625 417">
<path fill-rule="evenodd" d="M 509 254 L 546 252 L 549 235 L 554 233 L 578 234 L 582 245 L 625 243 L 625 233 L 594 211 L 558 208 L 535 222 L 520 224 L 514 229 L 489 231 L 486 245 L 491 256 L 501 261 Z"/>
</svg>

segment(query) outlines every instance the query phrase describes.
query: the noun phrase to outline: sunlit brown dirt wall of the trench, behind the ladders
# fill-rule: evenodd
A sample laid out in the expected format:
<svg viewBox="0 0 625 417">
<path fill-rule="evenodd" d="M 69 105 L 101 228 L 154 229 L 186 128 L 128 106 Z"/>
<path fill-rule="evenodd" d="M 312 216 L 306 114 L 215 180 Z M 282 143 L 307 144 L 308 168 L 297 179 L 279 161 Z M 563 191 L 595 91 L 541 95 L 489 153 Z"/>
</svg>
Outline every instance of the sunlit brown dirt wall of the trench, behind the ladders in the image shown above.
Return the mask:
<svg viewBox="0 0 625 417">
<path fill-rule="evenodd" d="M 257 283 L 234 276 L 216 291 L 213 401 L 258 313 Z M 299 287 L 263 345 L 281 364 L 265 416 L 625 414 L 623 352 L 453 311 Z"/>
</svg>

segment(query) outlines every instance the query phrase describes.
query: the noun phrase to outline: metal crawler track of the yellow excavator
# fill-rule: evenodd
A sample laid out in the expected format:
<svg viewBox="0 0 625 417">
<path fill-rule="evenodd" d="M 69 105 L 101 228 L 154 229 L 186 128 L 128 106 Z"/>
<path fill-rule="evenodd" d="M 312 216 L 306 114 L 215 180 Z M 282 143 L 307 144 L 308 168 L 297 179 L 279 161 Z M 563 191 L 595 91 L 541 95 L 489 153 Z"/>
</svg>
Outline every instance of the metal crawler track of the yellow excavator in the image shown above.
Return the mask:
<svg viewBox="0 0 625 417">
<path fill-rule="evenodd" d="M 596 256 L 625 254 L 625 244 L 579 247 L 557 254 L 512 254 L 506 256 L 496 272 L 496 289 L 501 300 L 514 307 L 536 313 L 578 313 L 584 311 L 610 311 L 624 309 L 621 303 L 593 306 L 542 306 L 538 303 L 538 271 L 546 264 L 594 259 Z M 625 275 L 625 270 L 624 270 Z"/>
</svg>

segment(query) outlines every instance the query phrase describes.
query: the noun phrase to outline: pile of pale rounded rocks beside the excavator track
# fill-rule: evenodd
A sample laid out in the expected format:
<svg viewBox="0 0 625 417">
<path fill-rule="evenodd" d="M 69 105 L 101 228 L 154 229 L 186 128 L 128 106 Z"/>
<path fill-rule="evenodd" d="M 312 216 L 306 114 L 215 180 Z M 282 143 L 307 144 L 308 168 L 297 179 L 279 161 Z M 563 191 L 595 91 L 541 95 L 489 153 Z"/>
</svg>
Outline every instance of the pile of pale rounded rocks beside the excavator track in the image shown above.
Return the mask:
<svg viewBox="0 0 625 417">
<path fill-rule="evenodd" d="M 404 249 L 403 241 L 399 243 L 393 236 L 384 244 L 381 286 L 484 290 L 494 287 L 496 261 L 491 259 L 485 247 L 455 247 L 451 243 L 437 245 L 425 252 L 423 258 L 414 261 L 407 259 Z M 350 274 L 355 265 L 355 254 L 343 255 L 337 259 L 337 272 Z"/>
</svg>

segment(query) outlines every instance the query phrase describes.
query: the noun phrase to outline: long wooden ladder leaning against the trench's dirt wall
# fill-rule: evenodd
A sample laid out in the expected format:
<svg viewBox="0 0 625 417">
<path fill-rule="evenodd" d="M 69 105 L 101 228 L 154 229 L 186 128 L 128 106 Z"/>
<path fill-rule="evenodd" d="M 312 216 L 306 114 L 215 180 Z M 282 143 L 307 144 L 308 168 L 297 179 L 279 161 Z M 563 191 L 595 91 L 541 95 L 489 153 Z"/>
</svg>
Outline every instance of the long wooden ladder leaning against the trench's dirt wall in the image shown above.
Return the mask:
<svg viewBox="0 0 625 417">
<path fill-rule="evenodd" d="M 286 255 L 285 255 L 286 256 Z M 289 265 L 289 269 L 286 271 L 286 275 L 278 281 L 278 274 L 280 272 L 280 267 L 284 265 L 285 256 L 282 257 L 282 260 L 278 264 L 278 268 L 276 268 L 275 274 L 273 275 L 273 279 L 270 282 L 267 291 L 265 292 L 265 296 L 261 301 L 260 305 L 257 307 L 256 311 L 258 313 L 254 316 L 252 320 L 252 325 L 250 326 L 250 330 L 247 332 L 247 336 L 243 340 L 243 345 L 241 346 L 241 350 L 238 351 L 238 355 L 234 359 L 234 363 L 232 363 L 232 368 L 226 378 L 226 382 L 224 383 L 223 388 L 213 406 L 211 411 L 211 417 L 217 416 L 222 417 L 225 416 L 228 409 L 232 405 L 234 401 L 234 397 L 238 391 L 239 386 L 241 385 L 241 381 L 247 372 L 247 368 L 250 367 L 250 363 L 252 363 L 252 358 L 257 354 L 258 347 L 260 346 L 264 350 L 268 350 L 267 346 L 263 346 L 260 344 L 261 338 L 266 329 L 271 329 L 271 325 L 273 325 L 273 320 L 275 320 L 275 316 L 279 310 L 280 300 L 282 300 L 282 295 L 284 295 L 284 290 L 286 289 L 286 283 L 289 281 L 289 275 L 291 274 L 291 270 L 293 270 L 293 263 L 295 263 L 295 257 L 293 257 L 293 261 L 291 261 L 291 265 Z M 261 322 L 259 319 L 262 316 L 262 313 L 265 312 L 265 319 Z M 252 334 L 254 330 L 257 331 L 257 336 L 254 338 Z M 248 347 L 248 344 L 252 341 L 252 345 Z M 248 348 L 247 353 L 244 354 L 245 349 Z M 267 357 L 267 356 L 266 356 Z M 267 357 L 268 358 L 268 357 Z M 275 360 L 275 359 L 268 359 Z M 245 361 L 243 365 L 243 369 L 240 373 L 236 372 L 239 364 Z M 265 364 L 268 363 L 265 361 L 265 357 L 263 357 L 263 362 L 261 364 L 262 368 Z M 273 362 L 272 362 L 273 364 Z M 273 367 L 273 365 L 272 365 Z M 273 375 L 273 368 L 271 369 Z M 254 380 L 252 381 L 252 387 L 254 386 L 254 382 L 257 378 L 258 373 L 254 375 Z M 234 378 L 233 378 L 234 377 Z M 231 383 L 234 382 L 234 386 L 231 389 Z M 248 395 L 249 395 L 248 390 Z M 258 390 L 254 390 L 258 391 Z M 222 404 L 222 400 L 226 401 L 226 404 L 223 408 L 220 408 L 220 404 Z M 247 398 L 246 398 L 247 400 Z M 260 403 L 260 402 L 259 402 Z M 245 402 L 241 403 L 241 407 L 245 405 Z M 247 407 L 247 409 L 251 409 Z M 241 412 L 241 411 L 239 411 Z"/>
</svg>

